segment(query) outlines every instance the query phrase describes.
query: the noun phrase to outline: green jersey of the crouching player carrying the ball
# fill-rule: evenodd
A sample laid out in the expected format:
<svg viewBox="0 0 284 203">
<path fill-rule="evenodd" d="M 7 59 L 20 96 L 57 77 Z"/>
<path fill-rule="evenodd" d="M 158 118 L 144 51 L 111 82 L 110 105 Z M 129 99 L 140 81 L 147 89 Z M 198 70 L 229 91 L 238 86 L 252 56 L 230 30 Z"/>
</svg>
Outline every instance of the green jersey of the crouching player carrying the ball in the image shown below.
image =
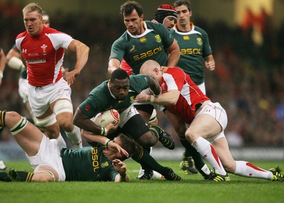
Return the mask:
<svg viewBox="0 0 284 203">
<path fill-rule="evenodd" d="M 114 95 L 111 94 L 107 85 L 108 80 L 94 88 L 88 95 L 87 99 L 79 105 L 82 113 L 87 115 L 89 118 L 94 117 L 97 113 L 104 110 L 114 108 L 121 113 L 134 102 L 136 95 L 141 93 L 150 85 L 150 78 L 146 75 L 130 76 L 129 78 L 129 94 L 126 95 L 124 100 L 117 100 Z"/>
</svg>

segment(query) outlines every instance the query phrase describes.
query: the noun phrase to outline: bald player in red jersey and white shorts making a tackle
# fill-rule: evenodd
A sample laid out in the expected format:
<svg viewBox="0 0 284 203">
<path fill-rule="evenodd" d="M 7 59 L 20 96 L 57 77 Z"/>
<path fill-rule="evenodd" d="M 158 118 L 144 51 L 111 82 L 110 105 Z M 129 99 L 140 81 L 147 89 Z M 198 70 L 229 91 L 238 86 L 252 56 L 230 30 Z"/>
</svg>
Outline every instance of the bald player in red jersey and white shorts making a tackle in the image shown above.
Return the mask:
<svg viewBox="0 0 284 203">
<path fill-rule="evenodd" d="M 230 179 L 227 174 L 229 172 L 243 177 L 284 181 L 279 167 L 268 171 L 250 162 L 234 160 L 224 135 L 227 124 L 226 111 L 219 103 L 212 103 L 182 69 L 168 68 L 162 73 L 160 65 L 149 60 L 143 63 L 140 73 L 155 78 L 160 83 L 162 93 L 154 96 L 142 92 L 136 96 L 135 101 L 164 105 L 165 115 L 177 132 L 178 129 L 189 125 L 185 134 L 179 136 L 185 137 L 214 168 L 212 174 L 208 170 L 204 171 L 209 175 L 207 179 L 226 182 Z M 196 167 L 202 170 L 199 166 Z"/>
</svg>

